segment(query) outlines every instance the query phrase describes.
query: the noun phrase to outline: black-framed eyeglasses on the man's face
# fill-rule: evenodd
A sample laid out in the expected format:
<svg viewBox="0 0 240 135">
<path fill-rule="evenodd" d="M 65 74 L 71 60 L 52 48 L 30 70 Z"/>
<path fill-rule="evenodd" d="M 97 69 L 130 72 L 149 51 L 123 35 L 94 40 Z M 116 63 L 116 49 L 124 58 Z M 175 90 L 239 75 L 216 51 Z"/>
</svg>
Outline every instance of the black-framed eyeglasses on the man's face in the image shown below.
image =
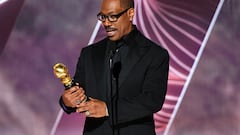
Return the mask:
<svg viewBox="0 0 240 135">
<path fill-rule="evenodd" d="M 105 22 L 106 19 L 108 19 L 109 22 L 116 22 L 120 16 L 122 16 L 125 12 L 128 11 L 128 9 L 130 8 L 127 8 L 116 15 L 104 15 L 102 13 L 98 13 L 97 18 L 99 21 L 102 21 L 102 22 Z"/>
</svg>

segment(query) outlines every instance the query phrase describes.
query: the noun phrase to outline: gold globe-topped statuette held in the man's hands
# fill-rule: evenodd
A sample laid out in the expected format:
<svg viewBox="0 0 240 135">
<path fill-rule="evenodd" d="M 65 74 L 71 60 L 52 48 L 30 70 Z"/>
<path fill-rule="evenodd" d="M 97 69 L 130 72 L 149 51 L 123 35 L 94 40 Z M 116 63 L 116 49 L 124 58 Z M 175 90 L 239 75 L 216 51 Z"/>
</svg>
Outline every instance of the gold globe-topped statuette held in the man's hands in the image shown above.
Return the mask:
<svg viewBox="0 0 240 135">
<path fill-rule="evenodd" d="M 57 78 L 61 79 L 61 82 L 63 83 L 66 89 L 69 89 L 75 85 L 73 79 L 68 73 L 67 67 L 64 64 L 62 63 L 55 64 L 53 66 L 53 73 Z"/>
</svg>

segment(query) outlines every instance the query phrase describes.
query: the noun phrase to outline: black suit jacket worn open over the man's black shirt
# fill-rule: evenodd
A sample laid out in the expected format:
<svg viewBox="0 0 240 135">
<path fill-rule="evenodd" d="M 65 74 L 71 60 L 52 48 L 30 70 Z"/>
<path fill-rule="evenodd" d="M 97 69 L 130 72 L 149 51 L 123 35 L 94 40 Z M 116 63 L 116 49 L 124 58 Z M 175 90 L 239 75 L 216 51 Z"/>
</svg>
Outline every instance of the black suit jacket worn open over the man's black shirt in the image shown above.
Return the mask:
<svg viewBox="0 0 240 135">
<path fill-rule="evenodd" d="M 109 96 L 109 39 L 81 51 L 74 80 L 87 96 L 105 101 L 109 112 L 109 117 L 86 118 L 85 135 L 111 135 L 113 127 L 120 135 L 155 135 L 153 113 L 162 108 L 165 99 L 169 55 L 137 29 L 133 31 L 126 40 L 129 50 L 121 63 L 117 97 Z"/>
</svg>

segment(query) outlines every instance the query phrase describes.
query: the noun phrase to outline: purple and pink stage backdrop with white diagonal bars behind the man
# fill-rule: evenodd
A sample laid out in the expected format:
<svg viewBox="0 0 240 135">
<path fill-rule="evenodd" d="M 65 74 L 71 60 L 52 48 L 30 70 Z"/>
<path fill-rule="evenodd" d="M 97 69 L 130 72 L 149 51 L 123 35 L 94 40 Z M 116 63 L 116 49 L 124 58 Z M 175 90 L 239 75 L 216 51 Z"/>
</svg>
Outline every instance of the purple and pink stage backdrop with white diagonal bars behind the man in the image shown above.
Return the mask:
<svg viewBox="0 0 240 135">
<path fill-rule="evenodd" d="M 105 36 L 96 19 L 100 2 L 0 0 L 1 134 L 82 134 L 84 117 L 66 115 L 58 105 L 63 86 L 54 77 L 52 66 L 65 63 L 73 75 L 81 48 Z M 237 108 L 229 107 L 240 103 L 234 94 L 239 86 L 239 47 L 235 42 L 239 2 L 135 2 L 134 23 L 171 57 L 166 101 L 155 114 L 156 132 L 239 134 Z M 217 18 L 219 13 L 221 18 Z M 236 16 L 230 16 L 233 13 Z"/>
</svg>

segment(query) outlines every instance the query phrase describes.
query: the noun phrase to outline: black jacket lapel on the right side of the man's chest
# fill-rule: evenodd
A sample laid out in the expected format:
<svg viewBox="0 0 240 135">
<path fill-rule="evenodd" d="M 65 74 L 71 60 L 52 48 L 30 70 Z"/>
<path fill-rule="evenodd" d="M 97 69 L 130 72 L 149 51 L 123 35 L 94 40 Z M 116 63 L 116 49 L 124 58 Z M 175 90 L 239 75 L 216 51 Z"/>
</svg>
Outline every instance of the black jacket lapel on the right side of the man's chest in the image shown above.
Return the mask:
<svg viewBox="0 0 240 135">
<path fill-rule="evenodd" d="M 126 60 L 122 63 L 122 70 L 119 77 L 119 88 L 123 84 L 123 82 L 128 77 L 128 74 L 131 70 L 133 70 L 134 66 L 137 64 L 139 60 L 146 54 L 147 50 L 149 49 L 149 46 L 144 45 L 144 42 L 137 43 L 132 42 L 130 43 L 130 50 L 127 54 Z"/>
</svg>

